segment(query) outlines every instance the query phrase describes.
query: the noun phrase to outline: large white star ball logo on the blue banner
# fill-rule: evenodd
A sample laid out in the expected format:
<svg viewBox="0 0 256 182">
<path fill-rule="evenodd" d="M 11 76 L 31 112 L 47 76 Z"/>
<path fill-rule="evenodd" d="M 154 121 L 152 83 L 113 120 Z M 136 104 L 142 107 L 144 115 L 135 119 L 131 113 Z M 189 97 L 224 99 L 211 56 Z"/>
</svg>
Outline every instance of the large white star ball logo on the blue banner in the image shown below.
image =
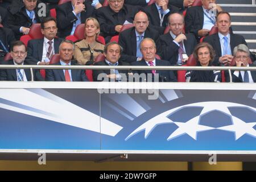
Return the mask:
<svg viewBox="0 0 256 182">
<path fill-rule="evenodd" d="M 177 111 L 180 111 L 184 108 L 192 109 L 193 107 L 201 107 L 203 109 L 201 110 L 201 113 L 199 115 L 196 115 L 195 117 L 189 119 L 187 122 L 173 121 L 172 119 L 170 119 L 170 117 Z M 253 112 L 254 115 L 256 113 L 254 107 L 236 104 L 232 102 L 198 102 L 195 104 L 188 104 L 180 107 L 175 107 L 174 109 L 156 115 L 155 117 L 144 122 L 141 126 L 137 127 L 137 129 L 135 129 L 125 140 L 129 140 L 134 135 L 143 131 L 144 138 L 147 139 L 147 137 L 151 134 L 152 131 L 154 131 L 157 126 L 163 124 L 171 124 L 177 126 L 177 129 L 170 134 L 167 140 L 173 140 L 185 134 L 189 135 L 194 140 L 197 140 L 197 134 L 208 130 L 224 130 L 228 132 L 233 132 L 234 140 L 237 140 L 246 134 L 256 138 L 256 130 L 254 129 L 254 126 L 256 125 L 256 118 L 253 118 L 253 120 L 250 122 L 245 122 L 241 118 L 232 115 L 232 113 L 230 112 L 230 109 L 232 108 L 247 109 L 247 111 Z M 220 127 L 210 127 L 205 124 L 201 124 L 201 118 L 211 113 L 212 111 L 217 111 L 218 113 L 227 115 L 230 118 L 230 123 L 226 126 L 221 126 L 222 121 L 216 121 L 216 124 L 220 125 Z"/>
</svg>

